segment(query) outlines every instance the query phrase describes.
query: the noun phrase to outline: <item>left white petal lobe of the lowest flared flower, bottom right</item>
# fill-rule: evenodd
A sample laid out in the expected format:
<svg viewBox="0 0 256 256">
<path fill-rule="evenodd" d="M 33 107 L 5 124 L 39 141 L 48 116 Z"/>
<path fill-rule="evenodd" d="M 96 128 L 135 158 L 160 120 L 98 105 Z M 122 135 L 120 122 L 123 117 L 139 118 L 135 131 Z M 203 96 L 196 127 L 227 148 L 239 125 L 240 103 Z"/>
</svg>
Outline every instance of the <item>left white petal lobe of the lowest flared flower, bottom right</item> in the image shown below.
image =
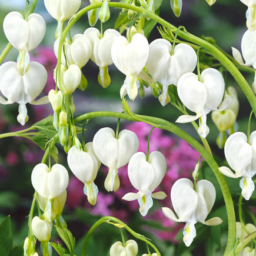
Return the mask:
<svg viewBox="0 0 256 256">
<path fill-rule="evenodd" d="M 178 179 L 171 188 L 171 201 L 180 221 L 187 221 L 197 208 L 198 194 L 192 181 Z"/>
</svg>

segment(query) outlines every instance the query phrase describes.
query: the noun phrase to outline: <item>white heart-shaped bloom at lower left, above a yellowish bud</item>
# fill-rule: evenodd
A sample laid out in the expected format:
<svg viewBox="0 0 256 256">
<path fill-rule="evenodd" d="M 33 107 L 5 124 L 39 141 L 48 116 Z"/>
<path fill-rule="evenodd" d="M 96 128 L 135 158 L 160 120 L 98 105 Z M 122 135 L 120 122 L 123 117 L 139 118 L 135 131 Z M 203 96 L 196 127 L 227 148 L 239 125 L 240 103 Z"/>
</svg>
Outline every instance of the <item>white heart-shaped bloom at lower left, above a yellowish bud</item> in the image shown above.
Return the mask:
<svg viewBox="0 0 256 256">
<path fill-rule="evenodd" d="M 31 174 L 32 185 L 41 197 L 53 200 L 68 187 L 68 171 L 61 164 L 52 166 L 51 171 L 46 164 L 38 164 Z"/>
</svg>

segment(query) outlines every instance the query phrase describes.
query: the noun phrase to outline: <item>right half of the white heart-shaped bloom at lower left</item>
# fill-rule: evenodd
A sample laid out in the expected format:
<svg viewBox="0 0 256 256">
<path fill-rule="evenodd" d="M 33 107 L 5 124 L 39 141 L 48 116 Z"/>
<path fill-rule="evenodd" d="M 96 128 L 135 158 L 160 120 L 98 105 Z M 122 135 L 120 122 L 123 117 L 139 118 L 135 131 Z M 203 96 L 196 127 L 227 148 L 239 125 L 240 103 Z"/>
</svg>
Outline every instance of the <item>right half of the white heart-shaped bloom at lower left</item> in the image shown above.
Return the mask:
<svg viewBox="0 0 256 256">
<path fill-rule="evenodd" d="M 63 165 L 55 164 L 52 166 L 47 177 L 47 187 L 49 200 L 58 197 L 68 187 L 68 171 Z"/>
</svg>

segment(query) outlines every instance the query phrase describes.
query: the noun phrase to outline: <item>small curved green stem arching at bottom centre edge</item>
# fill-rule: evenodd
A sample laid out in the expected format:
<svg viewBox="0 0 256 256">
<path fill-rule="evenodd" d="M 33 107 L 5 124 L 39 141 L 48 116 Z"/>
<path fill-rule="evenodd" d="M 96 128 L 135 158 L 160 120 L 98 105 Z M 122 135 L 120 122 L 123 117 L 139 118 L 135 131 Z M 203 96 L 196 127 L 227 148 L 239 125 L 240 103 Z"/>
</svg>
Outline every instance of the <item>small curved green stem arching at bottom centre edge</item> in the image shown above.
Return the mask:
<svg viewBox="0 0 256 256">
<path fill-rule="evenodd" d="M 87 245 L 88 245 L 89 238 L 91 237 L 92 233 L 96 230 L 96 228 L 98 228 L 99 225 L 101 225 L 102 223 L 108 223 L 108 224 L 112 224 L 112 225 L 115 225 L 115 226 L 118 226 L 117 225 L 117 223 L 118 223 L 119 224 L 119 228 L 125 228 L 125 230 L 130 232 L 135 238 L 137 238 L 139 240 L 142 240 L 142 241 L 146 242 L 147 244 L 149 244 L 155 250 L 155 252 L 157 252 L 157 256 L 161 256 L 160 252 L 157 250 L 157 247 L 155 247 L 154 244 L 149 242 L 147 240 L 147 238 L 145 238 L 144 236 L 142 236 L 142 235 L 138 234 L 137 232 L 133 231 L 124 222 L 118 220 L 115 217 L 111 217 L 111 216 L 102 217 L 97 222 L 95 222 L 94 225 L 92 225 L 90 230 L 87 232 L 87 235 L 85 236 L 84 244 L 82 245 L 81 256 L 85 256 L 86 255 L 85 253 L 86 253 L 86 250 L 87 250 Z"/>
</svg>

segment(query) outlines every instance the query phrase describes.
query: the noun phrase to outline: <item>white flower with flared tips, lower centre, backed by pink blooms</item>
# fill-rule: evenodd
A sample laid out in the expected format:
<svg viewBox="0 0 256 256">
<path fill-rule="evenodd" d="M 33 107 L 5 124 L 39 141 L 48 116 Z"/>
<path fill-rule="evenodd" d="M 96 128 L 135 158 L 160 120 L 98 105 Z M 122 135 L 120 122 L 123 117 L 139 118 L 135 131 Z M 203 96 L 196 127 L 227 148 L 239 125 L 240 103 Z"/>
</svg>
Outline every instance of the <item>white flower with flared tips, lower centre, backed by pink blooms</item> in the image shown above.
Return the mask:
<svg viewBox="0 0 256 256">
<path fill-rule="evenodd" d="M 147 215 L 153 205 L 152 198 L 164 199 L 165 192 L 154 192 L 161 183 L 167 169 L 167 162 L 161 152 L 152 152 L 148 159 L 143 152 L 132 155 L 128 164 L 128 177 L 137 193 L 128 193 L 122 199 L 127 201 L 138 200 L 139 212 L 142 216 Z"/>
</svg>

